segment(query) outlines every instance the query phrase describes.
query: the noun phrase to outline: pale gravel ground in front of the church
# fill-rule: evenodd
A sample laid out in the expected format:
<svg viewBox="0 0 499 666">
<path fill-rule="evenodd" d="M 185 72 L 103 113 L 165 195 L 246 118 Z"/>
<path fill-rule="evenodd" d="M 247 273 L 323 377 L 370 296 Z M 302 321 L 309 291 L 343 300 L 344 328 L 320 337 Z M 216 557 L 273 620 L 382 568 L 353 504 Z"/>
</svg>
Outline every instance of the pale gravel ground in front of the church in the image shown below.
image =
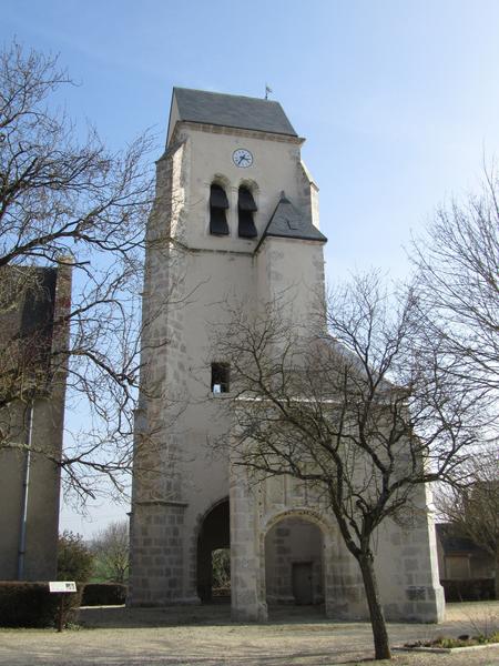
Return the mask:
<svg viewBox="0 0 499 666">
<path fill-rule="evenodd" d="M 390 624 L 393 646 L 499 625 L 499 602 L 449 604 L 444 625 Z M 233 624 L 226 605 L 83 608 L 80 627 L 0 629 L 6 666 L 365 666 L 370 626 L 324 619 L 313 608 L 281 608 L 259 625 Z M 376 664 L 387 664 L 377 662 Z M 394 650 L 394 666 L 499 666 L 499 646 L 445 655 Z"/>
</svg>

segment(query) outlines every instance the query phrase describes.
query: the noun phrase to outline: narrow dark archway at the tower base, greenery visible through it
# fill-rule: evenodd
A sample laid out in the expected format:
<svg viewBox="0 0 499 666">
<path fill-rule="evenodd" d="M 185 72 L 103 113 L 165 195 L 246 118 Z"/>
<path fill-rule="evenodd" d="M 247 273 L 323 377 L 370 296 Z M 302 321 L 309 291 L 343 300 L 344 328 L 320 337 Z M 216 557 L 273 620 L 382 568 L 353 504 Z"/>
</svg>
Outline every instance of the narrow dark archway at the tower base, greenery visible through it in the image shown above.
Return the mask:
<svg viewBox="0 0 499 666">
<path fill-rule="evenodd" d="M 228 497 L 213 506 L 201 523 L 197 537 L 197 594 L 203 603 L 213 601 L 214 577 L 218 585 L 225 582 L 227 587 L 222 589 L 221 597 L 230 596 L 230 556 L 231 526 Z M 218 591 L 220 592 L 220 591 Z"/>
</svg>

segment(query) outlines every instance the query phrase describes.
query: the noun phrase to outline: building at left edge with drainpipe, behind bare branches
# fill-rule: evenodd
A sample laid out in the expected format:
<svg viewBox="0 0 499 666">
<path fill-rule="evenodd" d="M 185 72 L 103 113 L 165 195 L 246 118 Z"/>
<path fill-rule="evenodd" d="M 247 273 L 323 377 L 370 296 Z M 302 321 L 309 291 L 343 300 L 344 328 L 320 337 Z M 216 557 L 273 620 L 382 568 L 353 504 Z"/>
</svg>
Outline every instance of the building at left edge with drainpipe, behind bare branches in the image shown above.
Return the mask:
<svg viewBox="0 0 499 666">
<path fill-rule="evenodd" d="M 57 573 L 71 266 L 1 269 L 0 579 Z"/>
</svg>

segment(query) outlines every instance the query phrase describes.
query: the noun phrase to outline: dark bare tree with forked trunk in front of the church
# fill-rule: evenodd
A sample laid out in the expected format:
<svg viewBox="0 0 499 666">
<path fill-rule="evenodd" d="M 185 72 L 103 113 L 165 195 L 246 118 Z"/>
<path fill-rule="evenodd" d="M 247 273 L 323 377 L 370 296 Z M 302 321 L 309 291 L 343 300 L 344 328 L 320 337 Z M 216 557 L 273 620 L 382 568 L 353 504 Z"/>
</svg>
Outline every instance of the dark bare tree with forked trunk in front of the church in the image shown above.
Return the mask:
<svg viewBox="0 0 499 666">
<path fill-rule="evenodd" d="M 374 534 L 389 518 L 418 519 L 417 490 L 454 476 L 479 438 L 480 410 L 439 367 L 414 292 L 359 276 L 332 294 L 327 321 L 332 335 L 314 335 L 285 303 L 253 317 L 234 310 L 215 342 L 231 363 L 224 444 L 255 483 L 289 475 L 327 503 L 361 572 L 376 658 L 389 658 Z"/>
</svg>

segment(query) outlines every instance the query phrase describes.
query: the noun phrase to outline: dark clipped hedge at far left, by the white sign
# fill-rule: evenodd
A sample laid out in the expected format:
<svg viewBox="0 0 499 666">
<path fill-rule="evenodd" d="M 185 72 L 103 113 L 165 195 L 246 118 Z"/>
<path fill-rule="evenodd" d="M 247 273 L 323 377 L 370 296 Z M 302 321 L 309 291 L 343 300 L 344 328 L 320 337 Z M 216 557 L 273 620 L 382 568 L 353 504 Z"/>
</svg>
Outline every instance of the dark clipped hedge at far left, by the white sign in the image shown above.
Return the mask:
<svg viewBox="0 0 499 666">
<path fill-rule="evenodd" d="M 82 588 L 64 594 L 64 624 L 74 622 Z M 60 595 L 49 591 L 49 583 L 0 581 L 0 626 L 52 627 L 59 620 Z"/>
</svg>

